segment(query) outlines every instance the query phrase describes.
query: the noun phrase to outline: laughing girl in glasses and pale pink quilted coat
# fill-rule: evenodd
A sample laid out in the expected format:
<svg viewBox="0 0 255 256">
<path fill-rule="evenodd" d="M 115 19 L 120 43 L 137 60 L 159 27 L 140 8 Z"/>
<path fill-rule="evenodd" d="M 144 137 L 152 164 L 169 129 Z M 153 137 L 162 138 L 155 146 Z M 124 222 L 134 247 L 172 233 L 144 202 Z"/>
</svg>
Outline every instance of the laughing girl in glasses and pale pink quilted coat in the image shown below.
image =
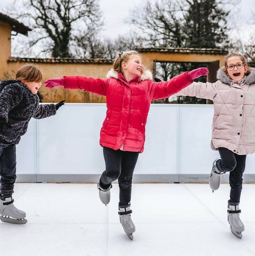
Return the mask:
<svg viewBox="0 0 255 256">
<path fill-rule="evenodd" d="M 229 173 L 228 222 L 231 232 L 242 238 L 244 224 L 239 218 L 242 176 L 247 154 L 255 152 L 255 69 L 238 53 L 225 56 L 225 67 L 217 72 L 215 83 L 193 83 L 176 95 L 196 96 L 214 102 L 211 148 L 221 159 L 213 163 L 209 185 L 214 192 L 221 176 Z"/>
</svg>

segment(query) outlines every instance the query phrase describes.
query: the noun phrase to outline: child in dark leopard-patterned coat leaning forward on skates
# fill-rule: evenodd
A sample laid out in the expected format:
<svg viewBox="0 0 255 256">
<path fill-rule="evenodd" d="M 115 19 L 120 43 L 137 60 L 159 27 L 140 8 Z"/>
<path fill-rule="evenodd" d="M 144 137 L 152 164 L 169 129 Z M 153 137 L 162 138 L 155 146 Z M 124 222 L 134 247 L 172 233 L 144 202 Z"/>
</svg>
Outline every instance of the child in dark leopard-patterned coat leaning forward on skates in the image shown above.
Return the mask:
<svg viewBox="0 0 255 256">
<path fill-rule="evenodd" d="M 16 180 L 16 144 L 27 130 L 29 120 L 56 114 L 64 100 L 55 104 L 39 105 L 37 91 L 42 74 L 34 65 L 17 71 L 15 80 L 0 82 L 0 219 L 3 222 L 26 224 L 26 213 L 13 204 L 12 193 Z"/>
</svg>

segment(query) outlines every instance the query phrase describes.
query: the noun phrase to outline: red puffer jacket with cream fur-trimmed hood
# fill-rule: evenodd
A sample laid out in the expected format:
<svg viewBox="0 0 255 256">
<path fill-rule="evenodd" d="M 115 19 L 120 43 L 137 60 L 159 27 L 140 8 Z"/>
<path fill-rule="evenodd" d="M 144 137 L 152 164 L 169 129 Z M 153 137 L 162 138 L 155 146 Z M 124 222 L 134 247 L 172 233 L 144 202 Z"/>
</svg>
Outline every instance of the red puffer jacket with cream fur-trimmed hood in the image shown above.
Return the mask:
<svg viewBox="0 0 255 256">
<path fill-rule="evenodd" d="M 81 89 L 106 96 L 106 117 L 100 132 L 100 145 L 124 151 L 143 152 L 145 125 L 152 100 L 164 99 L 191 84 L 187 72 L 168 82 L 153 82 L 149 70 L 129 82 L 110 70 L 108 79 L 64 76 L 65 89 Z"/>
</svg>

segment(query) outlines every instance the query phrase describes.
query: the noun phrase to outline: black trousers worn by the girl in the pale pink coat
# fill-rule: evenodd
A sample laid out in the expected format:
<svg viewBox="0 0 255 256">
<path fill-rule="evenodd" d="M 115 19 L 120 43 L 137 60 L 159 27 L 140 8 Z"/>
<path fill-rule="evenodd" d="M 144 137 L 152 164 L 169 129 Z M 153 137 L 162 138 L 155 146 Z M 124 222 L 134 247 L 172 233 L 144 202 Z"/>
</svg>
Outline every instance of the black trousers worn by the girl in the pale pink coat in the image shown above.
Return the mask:
<svg viewBox="0 0 255 256">
<path fill-rule="evenodd" d="M 222 172 L 229 172 L 230 199 L 229 204 L 238 205 L 243 184 L 243 173 L 245 169 L 246 155 L 237 155 L 227 148 L 218 148 L 221 160 L 216 167 Z"/>
</svg>

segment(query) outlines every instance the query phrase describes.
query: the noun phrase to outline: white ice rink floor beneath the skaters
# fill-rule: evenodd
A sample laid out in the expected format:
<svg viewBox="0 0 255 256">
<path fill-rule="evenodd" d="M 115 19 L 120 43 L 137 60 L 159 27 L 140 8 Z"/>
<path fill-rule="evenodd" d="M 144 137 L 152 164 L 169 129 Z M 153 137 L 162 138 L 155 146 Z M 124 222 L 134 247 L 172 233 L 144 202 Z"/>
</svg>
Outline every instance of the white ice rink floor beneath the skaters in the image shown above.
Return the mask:
<svg viewBox="0 0 255 256">
<path fill-rule="evenodd" d="M 2 255 L 255 255 L 255 184 L 244 184 L 243 239 L 227 222 L 229 185 L 133 184 L 134 240 L 119 217 L 118 185 L 104 206 L 96 184 L 17 183 L 14 204 L 26 225 L 0 222 Z"/>
</svg>

